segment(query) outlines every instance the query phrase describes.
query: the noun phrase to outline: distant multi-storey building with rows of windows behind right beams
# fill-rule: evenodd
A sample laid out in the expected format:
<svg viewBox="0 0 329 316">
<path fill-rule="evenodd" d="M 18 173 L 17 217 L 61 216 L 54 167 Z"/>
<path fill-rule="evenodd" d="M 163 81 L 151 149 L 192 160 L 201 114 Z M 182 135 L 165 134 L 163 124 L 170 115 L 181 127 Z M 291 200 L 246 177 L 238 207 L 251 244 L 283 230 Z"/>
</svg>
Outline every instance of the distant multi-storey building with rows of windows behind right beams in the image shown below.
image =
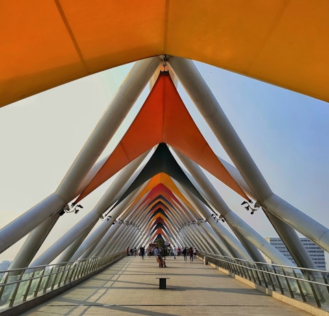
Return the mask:
<svg viewBox="0 0 329 316">
<path fill-rule="evenodd" d="M 292 263 L 295 263 L 295 260 L 293 260 L 293 257 L 287 250 L 287 247 L 284 245 L 284 243 L 279 237 L 267 237 L 266 240 L 269 241 L 269 243 L 273 245 L 273 247 L 276 247 L 276 249 L 279 250 L 281 254 L 291 260 Z M 318 245 L 315 245 L 315 243 L 313 243 L 313 241 L 310 241 L 310 239 L 308 238 L 300 238 L 300 241 L 302 242 L 302 245 L 304 245 L 306 251 L 310 255 L 310 258 L 313 260 L 315 267 L 319 270 L 326 270 L 326 259 L 324 257 L 324 250 L 321 249 Z M 269 259 L 267 258 L 267 260 Z"/>
</svg>

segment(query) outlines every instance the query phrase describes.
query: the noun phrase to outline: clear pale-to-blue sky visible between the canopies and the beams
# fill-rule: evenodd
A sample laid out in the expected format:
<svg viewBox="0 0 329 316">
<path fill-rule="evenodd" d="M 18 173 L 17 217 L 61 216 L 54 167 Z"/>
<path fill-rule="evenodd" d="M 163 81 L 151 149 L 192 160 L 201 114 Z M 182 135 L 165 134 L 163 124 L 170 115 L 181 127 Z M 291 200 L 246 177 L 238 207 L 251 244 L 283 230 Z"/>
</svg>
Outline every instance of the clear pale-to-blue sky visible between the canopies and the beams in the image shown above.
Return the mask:
<svg viewBox="0 0 329 316">
<path fill-rule="evenodd" d="M 0 108 L 1 227 L 56 190 L 130 67 L 103 71 Z M 328 227 L 328 103 L 206 64 L 197 67 L 272 191 Z M 230 161 L 180 84 L 178 89 L 215 154 Z M 147 88 L 137 108 L 146 95 Z M 250 215 L 239 195 L 218 180 L 214 183 L 252 228 L 264 237 L 277 236 L 262 211 Z M 61 217 L 41 251 L 86 215 L 107 186 L 86 197 L 80 213 Z M 12 260 L 21 243 L 0 254 L 0 260 Z"/>
</svg>

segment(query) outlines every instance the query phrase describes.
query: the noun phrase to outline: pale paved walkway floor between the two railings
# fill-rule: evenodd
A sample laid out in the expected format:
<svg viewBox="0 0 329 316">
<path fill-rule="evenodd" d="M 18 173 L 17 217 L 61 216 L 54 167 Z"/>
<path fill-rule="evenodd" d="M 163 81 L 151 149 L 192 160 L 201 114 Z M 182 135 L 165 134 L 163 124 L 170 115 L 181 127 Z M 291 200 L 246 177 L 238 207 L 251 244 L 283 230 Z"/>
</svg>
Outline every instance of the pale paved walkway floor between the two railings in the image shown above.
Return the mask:
<svg viewBox="0 0 329 316">
<path fill-rule="evenodd" d="M 127 256 L 75 289 L 24 315 L 309 315 L 195 259 Z M 159 289 L 158 276 L 168 276 Z"/>
</svg>

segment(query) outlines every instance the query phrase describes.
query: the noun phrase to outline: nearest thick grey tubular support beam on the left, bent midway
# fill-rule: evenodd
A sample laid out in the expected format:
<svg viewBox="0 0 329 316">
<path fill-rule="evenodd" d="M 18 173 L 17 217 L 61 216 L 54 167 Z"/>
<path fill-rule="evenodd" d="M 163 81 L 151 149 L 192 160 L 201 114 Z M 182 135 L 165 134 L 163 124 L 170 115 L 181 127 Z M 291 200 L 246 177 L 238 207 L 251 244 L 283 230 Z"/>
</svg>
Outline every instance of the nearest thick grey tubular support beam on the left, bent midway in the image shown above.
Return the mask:
<svg viewBox="0 0 329 316">
<path fill-rule="evenodd" d="M 73 199 L 80 183 L 106 148 L 159 64 L 160 60 L 156 57 L 136 62 L 56 192 L 0 230 L 0 253 L 34 230 L 42 221 L 59 212 Z M 29 244 L 28 247 L 34 245 Z"/>
</svg>

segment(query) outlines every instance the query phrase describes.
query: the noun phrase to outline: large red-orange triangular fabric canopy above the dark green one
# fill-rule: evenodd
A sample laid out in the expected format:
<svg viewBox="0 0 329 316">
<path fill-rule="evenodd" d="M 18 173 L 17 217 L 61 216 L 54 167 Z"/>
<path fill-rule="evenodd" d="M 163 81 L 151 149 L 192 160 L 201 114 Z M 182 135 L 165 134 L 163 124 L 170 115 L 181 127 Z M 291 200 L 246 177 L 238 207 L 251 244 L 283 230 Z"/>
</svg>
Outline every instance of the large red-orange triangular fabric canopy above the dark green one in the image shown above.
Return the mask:
<svg viewBox="0 0 329 316">
<path fill-rule="evenodd" d="M 130 161 L 158 143 L 167 143 L 175 147 L 243 198 L 248 199 L 199 132 L 169 73 L 161 72 L 132 125 L 75 204 Z"/>
</svg>

